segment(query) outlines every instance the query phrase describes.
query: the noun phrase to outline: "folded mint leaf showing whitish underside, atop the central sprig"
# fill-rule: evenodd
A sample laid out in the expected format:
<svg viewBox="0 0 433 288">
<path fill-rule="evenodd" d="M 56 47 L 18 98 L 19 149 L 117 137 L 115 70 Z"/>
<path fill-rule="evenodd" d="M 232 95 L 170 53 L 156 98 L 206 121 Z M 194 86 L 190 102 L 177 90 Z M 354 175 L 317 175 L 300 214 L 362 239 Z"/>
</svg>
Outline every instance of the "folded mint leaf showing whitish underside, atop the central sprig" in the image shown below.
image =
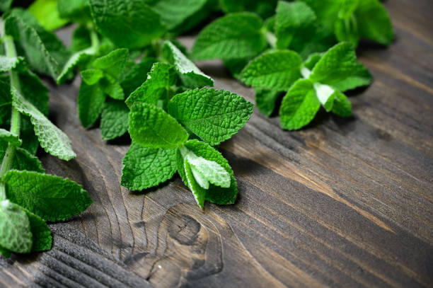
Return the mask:
<svg viewBox="0 0 433 288">
<path fill-rule="evenodd" d="M 163 54 L 168 62 L 174 65 L 185 86 L 194 88 L 214 86 L 214 80 L 200 71 L 172 42 L 166 41 L 164 43 Z"/>
</svg>

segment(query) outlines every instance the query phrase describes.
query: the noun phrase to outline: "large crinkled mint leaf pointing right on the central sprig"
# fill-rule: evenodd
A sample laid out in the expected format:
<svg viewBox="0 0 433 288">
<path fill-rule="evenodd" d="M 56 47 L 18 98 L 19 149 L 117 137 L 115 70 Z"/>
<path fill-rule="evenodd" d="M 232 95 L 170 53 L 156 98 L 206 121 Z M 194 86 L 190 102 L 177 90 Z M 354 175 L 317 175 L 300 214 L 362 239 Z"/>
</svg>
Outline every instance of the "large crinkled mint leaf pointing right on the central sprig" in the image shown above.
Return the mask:
<svg viewBox="0 0 433 288">
<path fill-rule="evenodd" d="M 254 105 L 224 90 L 202 88 L 186 91 L 168 103 L 168 113 L 210 145 L 236 134 L 253 113 Z"/>
</svg>

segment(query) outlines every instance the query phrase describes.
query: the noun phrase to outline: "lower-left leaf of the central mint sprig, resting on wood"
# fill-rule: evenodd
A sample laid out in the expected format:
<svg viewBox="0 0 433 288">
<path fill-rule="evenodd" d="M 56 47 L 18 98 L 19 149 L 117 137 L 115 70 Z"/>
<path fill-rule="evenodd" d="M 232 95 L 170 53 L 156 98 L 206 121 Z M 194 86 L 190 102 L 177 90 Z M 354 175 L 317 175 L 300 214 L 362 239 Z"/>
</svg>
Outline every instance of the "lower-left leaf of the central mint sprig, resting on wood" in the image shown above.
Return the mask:
<svg viewBox="0 0 433 288">
<path fill-rule="evenodd" d="M 133 142 L 122 163 L 120 184 L 129 190 L 144 190 L 173 177 L 176 149 L 154 149 Z"/>
</svg>

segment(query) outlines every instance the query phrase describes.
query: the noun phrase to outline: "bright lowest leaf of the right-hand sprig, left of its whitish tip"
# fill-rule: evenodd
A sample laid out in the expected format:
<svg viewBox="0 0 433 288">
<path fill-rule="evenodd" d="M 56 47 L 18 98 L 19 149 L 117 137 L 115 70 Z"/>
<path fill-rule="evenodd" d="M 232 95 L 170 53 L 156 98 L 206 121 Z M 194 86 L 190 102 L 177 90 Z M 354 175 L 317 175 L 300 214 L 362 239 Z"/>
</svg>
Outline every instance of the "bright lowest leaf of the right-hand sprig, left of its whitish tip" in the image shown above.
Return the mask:
<svg viewBox="0 0 433 288">
<path fill-rule="evenodd" d="M 299 79 L 284 96 L 279 117 L 283 129 L 294 130 L 307 125 L 321 108 L 313 83 Z"/>
</svg>

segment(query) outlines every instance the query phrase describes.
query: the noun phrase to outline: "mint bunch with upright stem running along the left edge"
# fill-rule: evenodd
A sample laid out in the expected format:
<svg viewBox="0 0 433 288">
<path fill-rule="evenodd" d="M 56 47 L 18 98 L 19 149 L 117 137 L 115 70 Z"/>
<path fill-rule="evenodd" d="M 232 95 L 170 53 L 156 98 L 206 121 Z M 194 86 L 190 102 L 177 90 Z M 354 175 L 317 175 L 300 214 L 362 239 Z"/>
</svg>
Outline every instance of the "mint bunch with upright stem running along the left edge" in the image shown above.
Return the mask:
<svg viewBox="0 0 433 288">
<path fill-rule="evenodd" d="M 48 89 L 32 72 L 57 76 L 66 47 L 28 11 L 7 11 L 0 21 L 0 253 L 8 258 L 49 250 L 46 221 L 69 219 L 92 201 L 81 185 L 45 174 L 35 156 L 38 146 L 66 161 L 76 156 L 47 119 Z"/>
</svg>

